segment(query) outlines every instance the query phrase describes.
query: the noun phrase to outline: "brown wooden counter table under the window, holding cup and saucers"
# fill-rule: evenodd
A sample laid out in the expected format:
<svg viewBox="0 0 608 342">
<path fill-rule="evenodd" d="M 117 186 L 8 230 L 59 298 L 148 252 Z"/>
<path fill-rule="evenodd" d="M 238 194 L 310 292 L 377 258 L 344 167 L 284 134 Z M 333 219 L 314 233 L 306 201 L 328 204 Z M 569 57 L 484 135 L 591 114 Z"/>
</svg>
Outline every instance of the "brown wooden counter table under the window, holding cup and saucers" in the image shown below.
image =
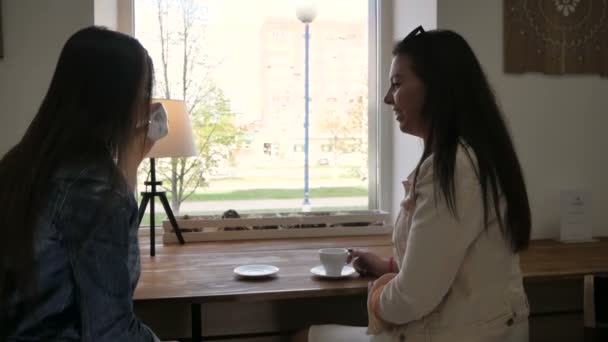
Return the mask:
<svg viewBox="0 0 608 342">
<path fill-rule="evenodd" d="M 369 278 L 321 280 L 310 274 L 323 247 L 367 249 L 390 256 L 388 236 L 306 238 L 158 245 L 150 257 L 142 246 L 142 274 L 136 301 L 182 301 L 191 304 L 192 337 L 201 341 L 201 304 L 214 301 L 269 301 L 326 296 L 365 295 Z M 276 278 L 241 280 L 233 269 L 243 264 L 272 264 Z M 608 239 L 597 243 L 561 244 L 533 241 L 522 254 L 526 281 L 582 277 L 608 272 Z"/>
</svg>

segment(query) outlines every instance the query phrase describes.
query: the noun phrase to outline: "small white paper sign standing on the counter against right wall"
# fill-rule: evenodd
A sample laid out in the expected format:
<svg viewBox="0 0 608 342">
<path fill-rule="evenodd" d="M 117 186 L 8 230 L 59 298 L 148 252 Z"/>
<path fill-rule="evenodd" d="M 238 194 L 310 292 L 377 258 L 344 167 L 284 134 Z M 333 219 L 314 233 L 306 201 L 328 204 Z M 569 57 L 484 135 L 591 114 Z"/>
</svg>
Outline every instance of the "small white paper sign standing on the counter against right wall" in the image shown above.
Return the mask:
<svg viewBox="0 0 608 342">
<path fill-rule="evenodd" d="M 589 223 L 589 197 L 589 193 L 583 190 L 561 191 L 561 241 L 593 240 Z"/>
</svg>

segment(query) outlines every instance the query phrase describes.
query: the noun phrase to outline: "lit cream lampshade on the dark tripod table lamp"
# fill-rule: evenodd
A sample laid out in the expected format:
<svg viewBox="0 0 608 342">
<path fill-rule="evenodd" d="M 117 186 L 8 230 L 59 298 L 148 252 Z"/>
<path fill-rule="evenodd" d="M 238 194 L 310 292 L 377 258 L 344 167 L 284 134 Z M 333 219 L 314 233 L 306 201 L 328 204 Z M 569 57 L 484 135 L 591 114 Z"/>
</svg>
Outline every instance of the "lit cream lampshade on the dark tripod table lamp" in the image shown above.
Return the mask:
<svg viewBox="0 0 608 342">
<path fill-rule="evenodd" d="M 186 104 L 179 100 L 153 99 L 160 102 L 167 110 L 169 121 L 169 134 L 157 141 L 148 158 L 192 157 L 198 155 L 192 134 L 190 117 L 186 111 Z"/>
</svg>

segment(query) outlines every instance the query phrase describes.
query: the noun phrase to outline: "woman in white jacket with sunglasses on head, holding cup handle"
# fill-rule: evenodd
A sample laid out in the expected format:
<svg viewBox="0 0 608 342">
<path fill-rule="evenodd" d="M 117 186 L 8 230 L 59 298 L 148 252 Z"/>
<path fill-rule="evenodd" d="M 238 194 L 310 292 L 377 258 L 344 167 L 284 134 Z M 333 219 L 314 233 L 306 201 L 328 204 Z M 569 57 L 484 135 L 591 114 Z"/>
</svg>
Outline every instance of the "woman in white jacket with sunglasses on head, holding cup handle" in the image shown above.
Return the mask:
<svg viewBox="0 0 608 342">
<path fill-rule="evenodd" d="M 309 341 L 528 340 L 519 252 L 530 208 L 519 161 L 486 76 L 451 31 L 412 31 L 393 50 L 390 88 L 403 133 L 424 141 L 393 233 L 394 257 L 355 250 L 378 277 L 369 326 L 313 326 Z"/>
</svg>

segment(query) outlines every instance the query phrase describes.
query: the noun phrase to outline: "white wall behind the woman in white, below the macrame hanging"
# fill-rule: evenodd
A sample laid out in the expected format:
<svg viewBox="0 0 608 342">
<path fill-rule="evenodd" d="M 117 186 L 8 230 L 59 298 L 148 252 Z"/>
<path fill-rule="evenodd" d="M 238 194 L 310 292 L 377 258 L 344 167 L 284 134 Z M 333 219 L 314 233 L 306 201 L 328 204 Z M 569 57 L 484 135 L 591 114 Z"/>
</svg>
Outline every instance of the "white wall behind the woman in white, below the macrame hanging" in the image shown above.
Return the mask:
<svg viewBox="0 0 608 342">
<path fill-rule="evenodd" d="M 502 1 L 439 0 L 438 27 L 473 46 L 502 103 L 523 165 L 533 237 L 559 234 L 559 191 L 591 191 L 595 235 L 608 235 L 608 79 L 506 75 Z"/>
</svg>

